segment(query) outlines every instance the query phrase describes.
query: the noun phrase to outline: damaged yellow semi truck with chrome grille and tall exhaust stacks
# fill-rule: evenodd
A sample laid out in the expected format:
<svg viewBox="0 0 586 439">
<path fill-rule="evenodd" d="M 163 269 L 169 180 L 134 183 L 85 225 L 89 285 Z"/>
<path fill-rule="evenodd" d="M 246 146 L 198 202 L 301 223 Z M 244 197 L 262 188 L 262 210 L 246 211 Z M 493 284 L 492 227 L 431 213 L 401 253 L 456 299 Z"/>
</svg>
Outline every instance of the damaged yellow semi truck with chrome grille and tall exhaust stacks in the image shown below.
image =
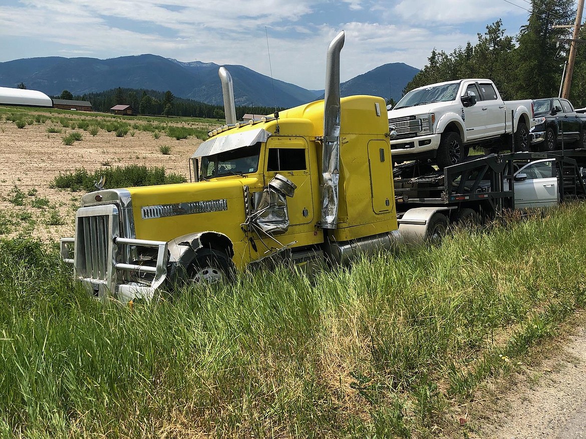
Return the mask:
<svg viewBox="0 0 586 439">
<path fill-rule="evenodd" d="M 489 188 L 476 195 L 480 184 L 452 190 L 458 180 L 445 171 L 452 179 L 442 183 L 451 190 L 446 202 L 398 214 L 397 206 L 423 196 L 402 192 L 404 204 L 397 203 L 383 98 L 340 100 L 343 42 L 341 32 L 328 49 L 325 100 L 260 120 L 236 121 L 231 77 L 221 67 L 227 124 L 193 153 L 191 183 L 84 195 L 75 235 L 62 238 L 61 252 L 88 293 L 150 300 L 186 282 L 231 279 L 274 263 L 309 272 L 401 239 L 439 236 L 446 218 L 464 207 L 493 215 L 510 201 L 495 173 L 486 174 Z"/>
</svg>

